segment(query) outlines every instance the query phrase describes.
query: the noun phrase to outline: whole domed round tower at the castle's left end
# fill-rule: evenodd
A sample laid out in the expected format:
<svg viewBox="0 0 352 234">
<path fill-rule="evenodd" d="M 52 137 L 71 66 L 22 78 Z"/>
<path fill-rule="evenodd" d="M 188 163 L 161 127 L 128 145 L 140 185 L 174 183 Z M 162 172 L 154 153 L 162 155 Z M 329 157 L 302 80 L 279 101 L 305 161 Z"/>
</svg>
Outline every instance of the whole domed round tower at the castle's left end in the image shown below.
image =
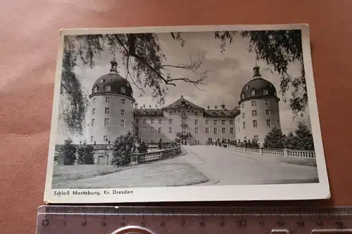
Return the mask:
<svg viewBox="0 0 352 234">
<path fill-rule="evenodd" d="M 118 74 L 115 58 L 110 63 L 110 73 L 96 80 L 89 95 L 89 144 L 106 144 L 132 131 L 132 87 Z"/>
</svg>

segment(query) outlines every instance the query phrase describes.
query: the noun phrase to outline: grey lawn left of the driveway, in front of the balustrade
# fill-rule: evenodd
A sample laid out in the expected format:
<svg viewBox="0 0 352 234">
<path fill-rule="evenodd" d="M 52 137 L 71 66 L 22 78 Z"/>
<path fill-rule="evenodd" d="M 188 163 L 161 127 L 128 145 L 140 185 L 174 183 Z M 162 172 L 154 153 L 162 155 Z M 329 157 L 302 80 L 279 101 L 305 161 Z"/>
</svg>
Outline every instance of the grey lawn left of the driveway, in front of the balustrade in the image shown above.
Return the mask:
<svg viewBox="0 0 352 234">
<path fill-rule="evenodd" d="M 81 168 L 76 170 L 76 167 Z M 94 169 L 94 165 L 88 167 L 60 166 L 59 169 L 54 169 L 56 175 L 53 178 L 53 188 L 170 187 L 191 186 L 208 181 L 208 177 L 180 157 L 139 164 L 123 170 L 112 166 L 98 166 L 101 167 L 99 169 Z"/>
</svg>

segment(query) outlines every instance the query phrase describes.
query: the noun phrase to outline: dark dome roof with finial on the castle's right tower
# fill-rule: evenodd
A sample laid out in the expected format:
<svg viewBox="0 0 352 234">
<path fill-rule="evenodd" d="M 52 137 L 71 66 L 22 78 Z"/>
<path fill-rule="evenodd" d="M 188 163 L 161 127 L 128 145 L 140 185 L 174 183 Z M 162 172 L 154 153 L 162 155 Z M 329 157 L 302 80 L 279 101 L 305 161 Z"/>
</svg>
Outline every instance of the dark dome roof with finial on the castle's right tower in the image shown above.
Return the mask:
<svg viewBox="0 0 352 234">
<path fill-rule="evenodd" d="M 277 98 L 275 86 L 261 77 L 259 69 L 260 67 L 258 67 L 258 65 L 253 67 L 253 79 L 243 86 L 239 103 L 243 103 L 245 100 L 258 98 Z"/>
</svg>

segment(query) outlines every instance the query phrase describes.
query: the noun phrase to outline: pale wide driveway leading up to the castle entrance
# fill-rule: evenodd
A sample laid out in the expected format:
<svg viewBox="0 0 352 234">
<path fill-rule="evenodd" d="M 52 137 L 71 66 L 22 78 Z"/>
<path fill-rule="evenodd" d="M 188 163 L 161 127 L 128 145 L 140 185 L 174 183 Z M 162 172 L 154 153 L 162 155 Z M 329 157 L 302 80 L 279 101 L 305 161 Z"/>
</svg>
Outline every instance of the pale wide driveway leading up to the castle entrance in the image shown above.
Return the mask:
<svg viewBox="0 0 352 234">
<path fill-rule="evenodd" d="M 183 150 L 184 159 L 210 178 L 199 186 L 318 182 L 316 167 L 280 162 L 276 156 L 230 152 L 213 145 L 184 146 Z"/>
</svg>

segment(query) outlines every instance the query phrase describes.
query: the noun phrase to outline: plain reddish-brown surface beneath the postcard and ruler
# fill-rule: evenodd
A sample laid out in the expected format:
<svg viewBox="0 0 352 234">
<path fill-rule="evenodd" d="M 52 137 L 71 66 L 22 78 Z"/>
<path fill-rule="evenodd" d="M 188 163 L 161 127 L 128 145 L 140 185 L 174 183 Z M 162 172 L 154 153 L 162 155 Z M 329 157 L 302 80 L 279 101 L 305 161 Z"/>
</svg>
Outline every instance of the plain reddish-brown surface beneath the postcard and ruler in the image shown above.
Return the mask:
<svg viewBox="0 0 352 234">
<path fill-rule="evenodd" d="M 348 0 L 2 1 L 0 233 L 34 233 L 43 204 L 58 30 L 73 27 L 308 23 L 332 199 L 212 205 L 352 205 L 351 11 Z"/>
</svg>

